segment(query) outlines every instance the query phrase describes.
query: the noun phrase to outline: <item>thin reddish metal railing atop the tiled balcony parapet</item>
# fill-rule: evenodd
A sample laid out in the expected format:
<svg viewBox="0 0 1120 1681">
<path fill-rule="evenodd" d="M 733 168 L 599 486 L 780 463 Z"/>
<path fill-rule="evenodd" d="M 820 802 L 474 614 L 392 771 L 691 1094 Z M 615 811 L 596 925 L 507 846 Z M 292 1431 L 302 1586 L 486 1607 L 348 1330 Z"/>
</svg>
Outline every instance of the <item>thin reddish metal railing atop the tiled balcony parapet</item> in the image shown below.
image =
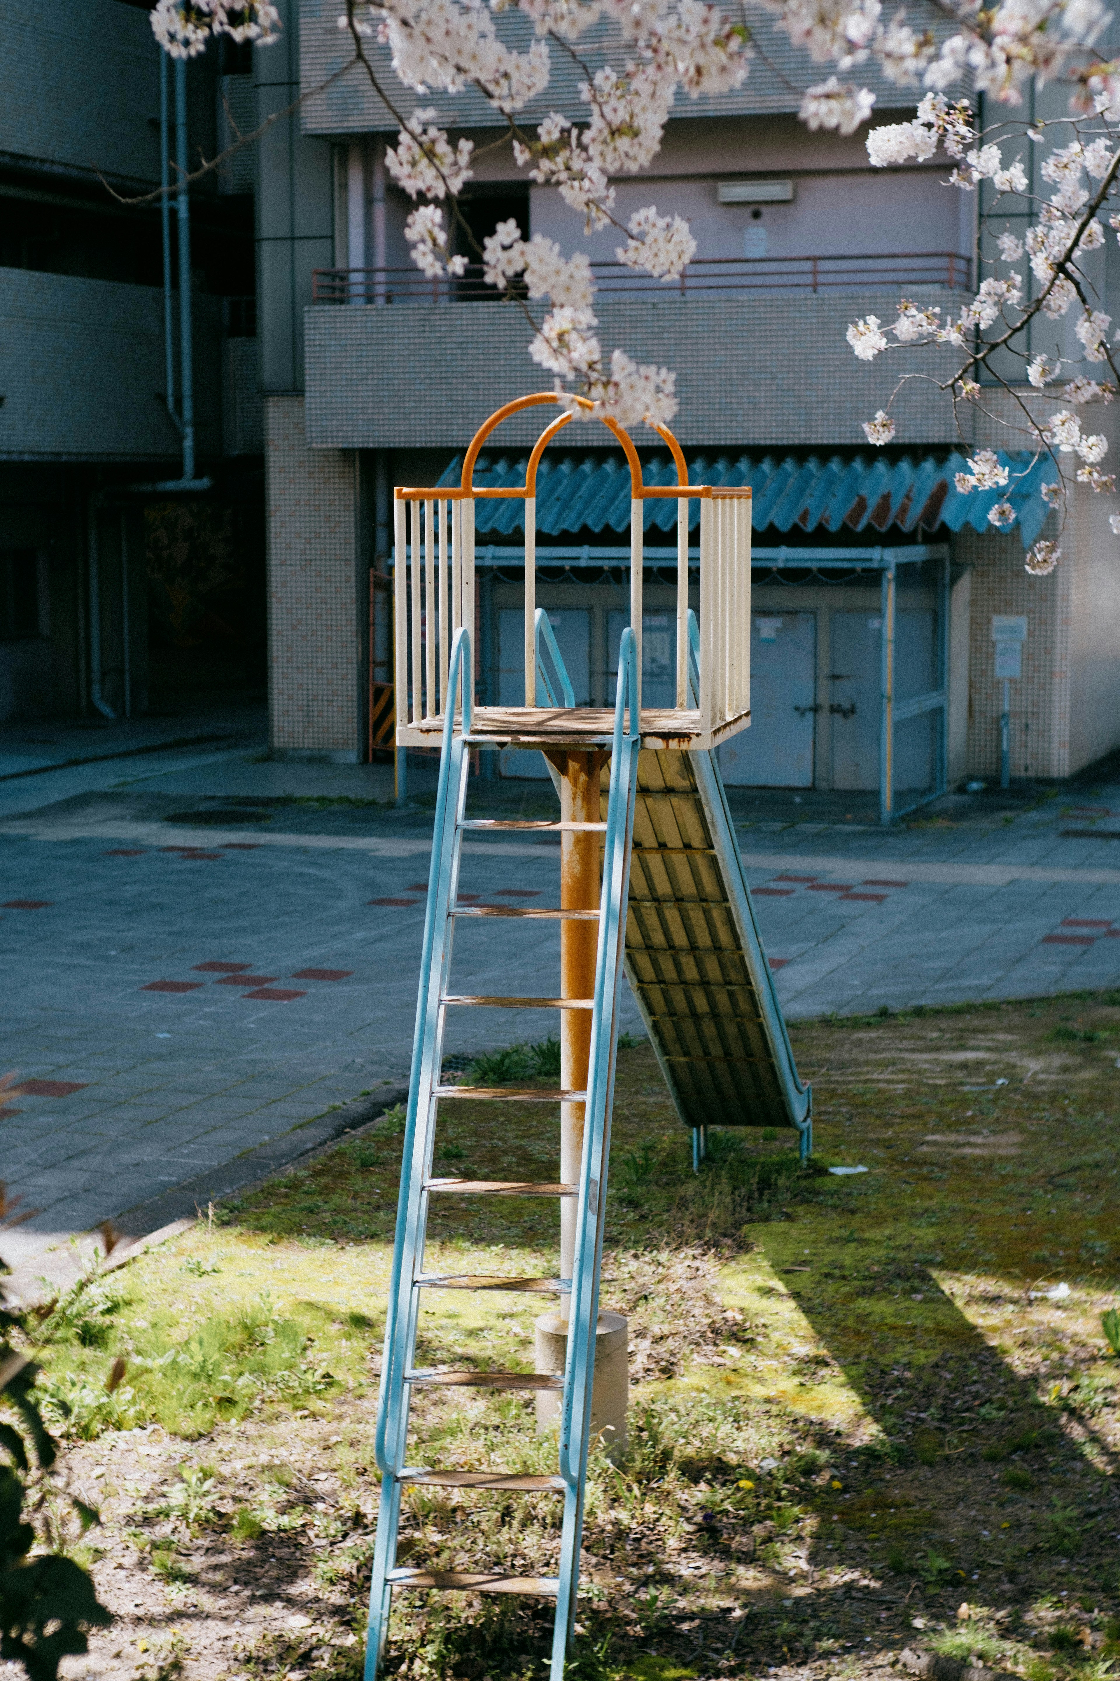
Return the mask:
<svg viewBox="0 0 1120 1681">
<path fill-rule="evenodd" d="M 678 281 L 655 281 L 625 262 L 593 262 L 591 272 L 606 298 L 732 298 L 751 291 L 823 292 L 833 287 L 945 286 L 972 289 L 972 264 L 954 250 L 890 252 L 853 257 L 702 257 Z M 316 269 L 317 304 L 458 304 L 497 303 L 482 269 L 462 279 L 430 281 L 418 269 Z"/>
</svg>

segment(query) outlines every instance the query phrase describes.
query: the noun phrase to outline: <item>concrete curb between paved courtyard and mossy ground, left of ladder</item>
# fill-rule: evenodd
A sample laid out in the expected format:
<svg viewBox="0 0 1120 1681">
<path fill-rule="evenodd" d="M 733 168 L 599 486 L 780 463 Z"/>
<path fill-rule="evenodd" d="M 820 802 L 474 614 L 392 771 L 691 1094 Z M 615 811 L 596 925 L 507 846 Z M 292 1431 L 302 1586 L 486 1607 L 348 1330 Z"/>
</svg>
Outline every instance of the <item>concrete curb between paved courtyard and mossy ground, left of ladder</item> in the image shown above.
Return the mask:
<svg viewBox="0 0 1120 1681">
<path fill-rule="evenodd" d="M 104 1262 L 104 1271 L 114 1271 L 134 1261 L 156 1244 L 178 1237 L 190 1230 L 205 1215 L 207 1204 L 223 1202 L 240 1192 L 255 1190 L 277 1173 L 307 1162 L 324 1150 L 329 1150 L 348 1133 L 363 1133 L 374 1126 L 386 1109 L 408 1099 L 408 1088 L 398 1086 L 378 1093 L 376 1098 L 356 1098 L 344 1103 L 329 1115 L 319 1115 L 314 1121 L 302 1121 L 287 1133 L 270 1138 L 255 1150 L 208 1168 L 195 1178 L 165 1190 L 148 1202 L 138 1202 L 113 1219 L 113 1225 L 123 1234 L 123 1241 L 114 1246 Z M 52 1296 L 71 1289 L 77 1283 L 84 1267 L 94 1254 L 101 1254 L 102 1246 L 97 1234 L 67 1244 L 65 1249 L 54 1249 L 49 1254 L 34 1256 L 15 1267 L 3 1281 L 3 1296 L 13 1308 L 37 1308 L 50 1301 Z"/>
</svg>

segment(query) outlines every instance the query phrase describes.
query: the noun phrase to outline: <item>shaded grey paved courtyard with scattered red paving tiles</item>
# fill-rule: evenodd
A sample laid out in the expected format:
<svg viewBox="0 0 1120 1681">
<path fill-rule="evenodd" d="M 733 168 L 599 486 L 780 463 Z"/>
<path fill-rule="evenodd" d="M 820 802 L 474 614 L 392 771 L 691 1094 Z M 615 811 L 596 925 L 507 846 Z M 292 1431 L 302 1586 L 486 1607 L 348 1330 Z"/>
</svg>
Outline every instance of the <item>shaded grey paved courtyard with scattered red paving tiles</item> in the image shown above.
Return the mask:
<svg viewBox="0 0 1120 1681">
<path fill-rule="evenodd" d="M 222 1188 L 247 1151 L 294 1155 L 292 1128 L 406 1083 L 430 812 L 390 793 L 386 767 L 274 765 L 247 738 L 0 780 L 2 1069 L 24 1086 L 0 1177 L 40 1210 L 5 1256 Z M 1120 787 L 950 800 L 892 832 L 732 798 L 793 1017 L 1120 985 Z M 557 866 L 551 837 L 475 840 L 462 893 L 549 903 Z M 557 940 L 460 925 L 455 983 L 552 990 Z M 447 1051 L 552 1030 L 462 1010 Z"/>
</svg>

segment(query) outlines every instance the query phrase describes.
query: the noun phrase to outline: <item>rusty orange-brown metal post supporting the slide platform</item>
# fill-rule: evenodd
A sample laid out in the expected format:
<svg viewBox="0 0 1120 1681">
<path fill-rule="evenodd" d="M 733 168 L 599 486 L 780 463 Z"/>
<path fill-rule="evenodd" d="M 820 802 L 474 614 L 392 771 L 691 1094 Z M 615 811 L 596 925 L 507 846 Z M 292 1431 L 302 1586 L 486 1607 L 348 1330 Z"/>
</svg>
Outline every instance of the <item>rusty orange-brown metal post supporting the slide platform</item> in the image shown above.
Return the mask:
<svg viewBox="0 0 1120 1681">
<path fill-rule="evenodd" d="M 599 772 L 604 753 L 557 753 L 561 775 L 561 819 L 598 824 Z M 599 908 L 599 835 L 564 829 L 561 832 L 561 909 L 598 911 Z M 594 953 L 598 923 L 561 923 L 561 997 L 594 997 Z M 561 1010 L 561 1088 L 586 1091 L 591 1064 L 591 1010 Z M 586 1104 L 561 1104 L 561 1183 L 579 1180 L 583 1157 L 583 1123 Z M 571 1278 L 576 1256 L 576 1204 L 561 1199 L 561 1278 Z M 561 1296 L 561 1313 L 568 1318 L 568 1296 Z"/>
</svg>

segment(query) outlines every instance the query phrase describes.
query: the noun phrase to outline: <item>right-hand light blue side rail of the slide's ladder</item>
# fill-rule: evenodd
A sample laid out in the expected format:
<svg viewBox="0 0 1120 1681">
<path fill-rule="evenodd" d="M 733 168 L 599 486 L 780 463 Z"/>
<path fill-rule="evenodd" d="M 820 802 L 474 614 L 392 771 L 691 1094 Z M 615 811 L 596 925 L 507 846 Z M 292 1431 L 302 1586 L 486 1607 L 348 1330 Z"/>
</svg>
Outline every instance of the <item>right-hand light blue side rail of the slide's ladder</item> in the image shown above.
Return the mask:
<svg viewBox="0 0 1120 1681">
<path fill-rule="evenodd" d="M 615 738 L 603 857 L 603 911 L 596 953 L 594 1017 L 591 1025 L 591 1078 L 576 1212 L 576 1261 L 571 1283 L 571 1331 L 564 1365 L 559 1473 L 568 1484 L 561 1538 L 559 1592 L 552 1637 L 551 1681 L 563 1681 L 568 1644 L 576 1617 L 583 1503 L 588 1476 L 594 1341 L 599 1318 L 599 1273 L 606 1215 L 611 1106 L 618 1051 L 618 999 L 626 935 L 626 893 L 638 782 L 640 698 L 638 647 L 633 629 L 623 630 L 618 657 Z M 630 730 L 623 716 L 630 711 Z"/>
</svg>

